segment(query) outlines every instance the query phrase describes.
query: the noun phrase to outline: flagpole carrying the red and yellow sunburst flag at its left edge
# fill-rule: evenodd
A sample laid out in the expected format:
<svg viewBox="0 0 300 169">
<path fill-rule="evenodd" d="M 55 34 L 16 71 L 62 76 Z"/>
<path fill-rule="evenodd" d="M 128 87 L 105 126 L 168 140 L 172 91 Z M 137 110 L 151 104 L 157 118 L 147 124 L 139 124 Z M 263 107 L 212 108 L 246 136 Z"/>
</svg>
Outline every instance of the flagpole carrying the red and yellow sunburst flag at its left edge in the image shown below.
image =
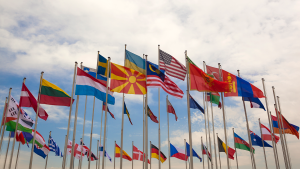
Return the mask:
<svg viewBox="0 0 300 169">
<path fill-rule="evenodd" d="M 107 75 L 106 75 L 106 97 L 105 97 L 105 115 L 104 115 L 104 135 L 103 135 L 103 157 L 102 157 L 102 169 L 104 169 L 104 153 L 106 143 L 106 122 L 107 122 L 107 97 L 108 97 L 108 85 L 109 85 L 109 74 L 110 74 L 110 57 L 107 58 Z M 116 146 L 116 145 L 115 145 Z"/>
</svg>

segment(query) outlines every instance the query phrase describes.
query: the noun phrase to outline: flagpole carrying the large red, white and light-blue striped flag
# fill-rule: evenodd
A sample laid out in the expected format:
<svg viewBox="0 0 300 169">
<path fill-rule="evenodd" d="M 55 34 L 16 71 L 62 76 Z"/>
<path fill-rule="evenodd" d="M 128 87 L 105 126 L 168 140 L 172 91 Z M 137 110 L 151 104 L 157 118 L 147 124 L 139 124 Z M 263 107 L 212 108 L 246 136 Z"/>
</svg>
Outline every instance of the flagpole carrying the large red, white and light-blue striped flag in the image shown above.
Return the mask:
<svg viewBox="0 0 300 169">
<path fill-rule="evenodd" d="M 75 85 L 75 77 L 76 77 L 76 69 L 77 69 L 77 62 L 75 62 L 75 67 L 74 67 L 74 76 L 73 76 L 73 83 L 72 83 L 72 95 L 71 95 L 71 101 L 70 101 L 70 111 L 69 111 L 69 120 L 68 120 L 68 129 L 67 129 L 67 139 L 65 142 L 65 147 L 64 147 L 64 157 L 63 157 L 63 164 L 62 164 L 62 169 L 66 168 L 66 160 L 67 160 L 67 145 L 68 145 L 68 138 L 69 138 L 69 132 L 70 132 L 70 122 L 71 122 L 71 115 L 72 115 L 72 103 L 73 103 L 73 95 L 74 95 L 74 85 Z M 72 158 L 72 156 L 71 156 Z"/>
</svg>

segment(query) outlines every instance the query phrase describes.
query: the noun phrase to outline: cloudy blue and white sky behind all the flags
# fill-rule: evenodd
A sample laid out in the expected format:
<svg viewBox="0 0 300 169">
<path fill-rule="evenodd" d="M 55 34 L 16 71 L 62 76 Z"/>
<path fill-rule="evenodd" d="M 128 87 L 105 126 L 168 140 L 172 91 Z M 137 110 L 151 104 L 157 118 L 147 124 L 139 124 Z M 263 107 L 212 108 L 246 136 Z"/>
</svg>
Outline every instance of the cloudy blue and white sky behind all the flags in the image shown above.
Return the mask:
<svg viewBox="0 0 300 169">
<path fill-rule="evenodd" d="M 263 89 L 262 78 L 265 79 L 267 99 L 271 113 L 274 114 L 274 98 L 272 86 L 280 97 L 283 115 L 290 123 L 298 125 L 297 93 L 300 72 L 300 2 L 294 0 L 253 0 L 253 1 L 120 1 L 120 0 L 86 0 L 86 1 L 1 1 L 0 11 L 0 111 L 3 111 L 5 97 L 12 87 L 12 96 L 19 100 L 21 84 L 26 77 L 26 85 L 37 97 L 40 74 L 44 78 L 62 88 L 69 95 L 72 92 L 74 63 L 83 62 L 84 66 L 95 68 L 97 52 L 120 65 L 124 64 L 124 46 L 139 56 L 148 55 L 149 61 L 158 60 L 158 45 L 171 54 L 179 62 L 185 64 L 184 52 L 203 68 L 207 65 L 222 68 L 241 77 L 259 89 Z M 171 78 L 184 91 L 182 99 L 169 96 L 169 100 L 178 115 L 178 121 L 170 114 L 170 142 L 184 149 L 184 139 L 188 140 L 186 81 Z M 160 92 L 161 150 L 168 156 L 166 93 Z M 191 95 L 203 106 L 203 95 L 192 91 Z M 110 105 L 116 119 L 107 117 L 107 152 L 113 157 L 114 142 L 121 144 L 122 94 L 115 93 L 116 104 Z M 74 96 L 75 97 L 75 96 Z M 149 106 L 158 116 L 158 89 L 149 89 Z M 77 99 L 77 98 L 75 98 Z M 132 156 L 133 144 L 140 150 L 142 144 L 143 102 L 140 95 L 125 95 L 125 102 L 133 125 L 124 118 L 124 150 Z M 265 105 L 265 99 L 261 99 Z M 233 147 L 233 132 L 248 141 L 245 114 L 240 97 L 228 97 L 224 100 L 229 146 Z M 79 97 L 78 119 L 76 126 L 76 142 L 84 138 L 90 146 L 91 123 L 93 120 L 92 151 L 97 152 L 97 140 L 100 140 L 102 102 L 95 100 L 93 113 L 93 97 L 87 98 L 85 130 L 84 107 L 85 96 Z M 69 118 L 69 108 L 63 106 L 43 105 L 49 114 L 47 121 L 38 119 L 37 130 L 48 139 L 49 132 L 60 146 L 64 147 Z M 24 110 L 35 119 L 32 108 Z M 258 119 L 269 126 L 267 114 L 262 109 L 251 109 L 246 103 L 250 129 L 260 135 Z M 222 111 L 213 107 L 214 128 L 222 140 L 225 140 Z M 70 138 L 73 135 L 75 104 L 73 104 Z M 211 122 L 211 109 L 209 108 Z M 193 148 L 202 157 L 201 137 L 206 141 L 204 116 L 191 109 Z M 211 123 L 210 123 L 211 124 Z M 211 140 L 213 133 L 211 126 Z M 103 133 L 103 132 L 102 132 Z M 103 137 L 102 137 L 103 139 Z M 149 121 L 149 141 L 158 146 L 158 124 Z M 205 142 L 204 141 L 204 142 Z M 287 143 L 292 166 L 300 165 L 299 140 L 287 135 Z M 5 132 L 1 149 L 0 165 L 4 165 L 7 149 L 8 132 Z M 269 142 L 271 144 L 271 142 Z M 206 142 L 205 142 L 206 144 Z M 16 144 L 15 147 L 17 147 Z M 255 147 L 255 160 L 258 168 L 265 167 L 263 149 Z M 281 143 L 277 144 L 281 168 L 284 167 Z M 28 168 L 30 150 L 21 145 L 18 169 Z M 9 149 L 10 153 L 10 149 Z M 14 154 L 16 154 L 16 149 Z M 212 145 L 213 160 L 214 146 Z M 238 164 L 245 169 L 251 168 L 250 154 L 237 150 Z M 275 168 L 272 148 L 266 148 L 269 168 Z M 15 157 L 13 161 L 15 161 Z M 222 168 L 226 167 L 225 154 L 221 153 Z M 9 157 L 8 157 L 9 158 Z M 205 167 L 207 168 L 206 156 Z M 62 158 L 49 153 L 48 168 L 61 167 Z M 219 160 L 218 160 L 219 161 Z M 70 157 L 67 158 L 69 166 Z M 131 168 L 131 162 L 123 160 L 123 168 Z M 215 162 L 214 162 L 215 164 Z M 75 168 L 78 160 L 75 160 Z M 83 166 L 88 163 L 84 158 Z M 134 161 L 134 168 L 140 168 L 142 162 Z M 194 158 L 194 167 L 202 167 L 202 163 Z M 218 164 L 219 165 L 219 164 Z M 15 162 L 13 162 L 13 167 Z M 45 166 L 45 160 L 34 154 L 33 168 Z M 106 160 L 106 168 L 112 169 L 113 163 Z M 167 169 L 168 162 L 163 163 Z M 185 162 L 171 158 L 172 168 L 184 168 Z M 236 160 L 230 160 L 231 168 L 236 167 Z M 95 168 L 91 162 L 91 168 Z M 158 168 L 158 160 L 152 159 L 152 167 Z M 119 159 L 116 159 L 119 168 Z"/>
</svg>

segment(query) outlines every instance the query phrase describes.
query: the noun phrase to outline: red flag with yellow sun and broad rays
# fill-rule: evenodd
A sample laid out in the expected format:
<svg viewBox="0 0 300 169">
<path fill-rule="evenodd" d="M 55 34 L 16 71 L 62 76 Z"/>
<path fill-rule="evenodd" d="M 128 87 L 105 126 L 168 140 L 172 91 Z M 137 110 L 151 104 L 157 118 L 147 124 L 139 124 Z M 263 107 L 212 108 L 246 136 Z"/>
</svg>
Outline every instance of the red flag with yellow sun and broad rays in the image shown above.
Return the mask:
<svg viewBox="0 0 300 169">
<path fill-rule="evenodd" d="M 146 94 L 146 76 L 128 67 L 112 63 L 110 89 L 118 93 Z"/>
</svg>

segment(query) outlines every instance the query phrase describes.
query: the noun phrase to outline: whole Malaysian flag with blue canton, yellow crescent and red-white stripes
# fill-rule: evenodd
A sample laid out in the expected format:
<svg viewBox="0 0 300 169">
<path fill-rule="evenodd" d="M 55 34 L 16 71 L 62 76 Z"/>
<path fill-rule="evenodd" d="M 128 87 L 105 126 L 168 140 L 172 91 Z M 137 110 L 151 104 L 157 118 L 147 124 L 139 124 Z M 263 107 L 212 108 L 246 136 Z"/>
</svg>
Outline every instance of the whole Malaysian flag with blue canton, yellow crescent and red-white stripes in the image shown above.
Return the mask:
<svg viewBox="0 0 300 169">
<path fill-rule="evenodd" d="M 156 68 L 156 65 L 148 62 L 147 64 L 147 86 L 160 87 L 166 93 L 177 97 L 183 97 L 183 91 L 164 73 Z"/>
</svg>

